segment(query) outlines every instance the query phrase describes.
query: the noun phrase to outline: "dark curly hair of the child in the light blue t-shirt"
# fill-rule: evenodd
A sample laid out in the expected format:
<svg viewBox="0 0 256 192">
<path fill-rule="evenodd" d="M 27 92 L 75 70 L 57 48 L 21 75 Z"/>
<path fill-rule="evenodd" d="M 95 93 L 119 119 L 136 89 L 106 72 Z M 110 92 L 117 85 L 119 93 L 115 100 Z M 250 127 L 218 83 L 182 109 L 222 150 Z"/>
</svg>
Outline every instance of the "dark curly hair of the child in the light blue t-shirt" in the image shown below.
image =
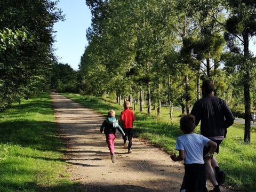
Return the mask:
<svg viewBox="0 0 256 192">
<path fill-rule="evenodd" d="M 193 115 L 187 114 L 180 118 L 180 130 L 184 133 L 191 133 L 195 129 L 196 118 Z"/>
</svg>

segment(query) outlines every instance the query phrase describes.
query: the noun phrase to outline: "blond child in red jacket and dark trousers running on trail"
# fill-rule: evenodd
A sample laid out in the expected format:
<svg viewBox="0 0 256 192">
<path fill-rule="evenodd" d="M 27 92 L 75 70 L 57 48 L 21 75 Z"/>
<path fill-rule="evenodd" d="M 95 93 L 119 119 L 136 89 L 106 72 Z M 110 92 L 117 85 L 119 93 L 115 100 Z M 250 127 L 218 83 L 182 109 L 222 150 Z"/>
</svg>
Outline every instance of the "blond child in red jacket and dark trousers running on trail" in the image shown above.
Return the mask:
<svg viewBox="0 0 256 192">
<path fill-rule="evenodd" d="M 133 137 L 133 124 L 135 116 L 130 110 L 131 103 L 129 101 L 124 102 L 124 110 L 121 112 L 121 122 L 123 123 L 123 130 L 125 135 L 123 136 L 124 148 L 128 148 L 128 153 L 132 153 L 132 137 Z M 127 140 L 128 137 L 128 140 Z"/>
</svg>

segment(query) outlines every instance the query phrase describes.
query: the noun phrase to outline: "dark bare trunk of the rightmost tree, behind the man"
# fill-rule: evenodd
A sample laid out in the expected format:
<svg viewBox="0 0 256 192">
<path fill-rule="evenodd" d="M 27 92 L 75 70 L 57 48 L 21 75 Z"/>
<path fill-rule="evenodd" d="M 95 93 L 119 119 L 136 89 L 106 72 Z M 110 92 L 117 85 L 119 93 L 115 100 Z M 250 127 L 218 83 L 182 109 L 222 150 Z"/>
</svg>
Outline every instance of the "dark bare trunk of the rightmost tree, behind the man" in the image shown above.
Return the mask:
<svg viewBox="0 0 256 192">
<path fill-rule="evenodd" d="M 249 33 L 245 30 L 244 40 L 244 57 L 249 55 Z M 244 75 L 244 142 L 251 142 L 251 98 L 250 98 L 250 71 L 247 69 Z"/>
</svg>

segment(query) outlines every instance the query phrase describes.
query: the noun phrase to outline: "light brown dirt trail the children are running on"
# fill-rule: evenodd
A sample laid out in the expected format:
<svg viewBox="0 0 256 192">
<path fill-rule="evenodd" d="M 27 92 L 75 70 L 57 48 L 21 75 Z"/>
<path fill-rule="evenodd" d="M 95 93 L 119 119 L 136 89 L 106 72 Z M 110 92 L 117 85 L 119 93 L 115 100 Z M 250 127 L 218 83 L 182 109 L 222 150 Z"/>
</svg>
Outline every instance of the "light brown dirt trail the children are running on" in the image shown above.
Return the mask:
<svg viewBox="0 0 256 192">
<path fill-rule="evenodd" d="M 99 131 L 105 117 L 58 93 L 51 96 L 61 137 L 68 146 L 71 180 L 81 182 L 87 191 L 179 191 L 184 169 L 181 163 L 137 138 L 133 153 L 127 154 L 119 133 L 116 162 L 112 163 L 105 135 Z"/>
</svg>

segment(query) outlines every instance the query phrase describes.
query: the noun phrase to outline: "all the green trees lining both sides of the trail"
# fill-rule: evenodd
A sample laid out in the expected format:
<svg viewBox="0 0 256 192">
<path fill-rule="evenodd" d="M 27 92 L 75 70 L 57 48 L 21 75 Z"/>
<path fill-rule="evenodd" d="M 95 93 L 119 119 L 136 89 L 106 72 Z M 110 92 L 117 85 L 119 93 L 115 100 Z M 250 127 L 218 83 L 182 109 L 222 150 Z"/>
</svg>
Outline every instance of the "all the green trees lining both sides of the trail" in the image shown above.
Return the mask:
<svg viewBox="0 0 256 192">
<path fill-rule="evenodd" d="M 89 44 L 79 70 L 53 54 L 53 24 L 63 20 L 57 2 L 0 1 L 0 108 L 57 89 L 115 95 L 189 113 L 201 98 L 201 82 L 236 117 L 245 118 L 250 142 L 256 111 L 256 58 L 249 41 L 256 33 L 256 2 L 250 0 L 86 0 L 92 13 Z M 83 23 L 81 23 L 83 25 Z M 251 40 L 252 41 L 252 40 Z M 142 105 L 141 105 L 142 106 Z M 143 108 L 141 108 L 143 110 Z"/>
</svg>

